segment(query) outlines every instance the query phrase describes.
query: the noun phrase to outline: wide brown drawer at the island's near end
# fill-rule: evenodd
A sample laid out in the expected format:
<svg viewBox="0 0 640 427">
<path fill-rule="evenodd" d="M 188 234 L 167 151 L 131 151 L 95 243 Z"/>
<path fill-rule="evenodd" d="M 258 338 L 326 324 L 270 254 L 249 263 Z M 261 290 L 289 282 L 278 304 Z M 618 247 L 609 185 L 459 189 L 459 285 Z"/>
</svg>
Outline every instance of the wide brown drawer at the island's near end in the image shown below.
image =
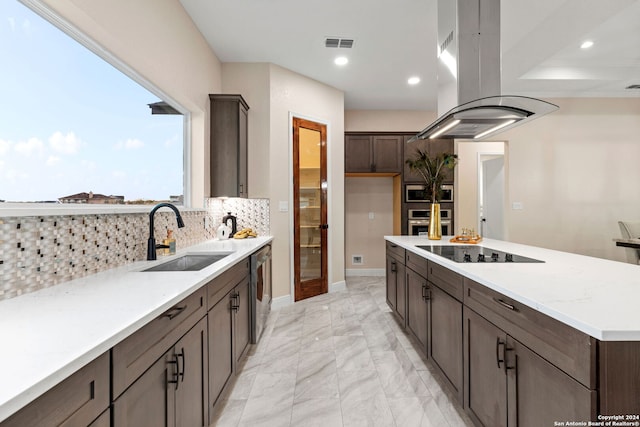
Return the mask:
<svg viewBox="0 0 640 427">
<path fill-rule="evenodd" d="M 584 386 L 596 388 L 596 340 L 464 278 L 464 304 Z"/>
</svg>

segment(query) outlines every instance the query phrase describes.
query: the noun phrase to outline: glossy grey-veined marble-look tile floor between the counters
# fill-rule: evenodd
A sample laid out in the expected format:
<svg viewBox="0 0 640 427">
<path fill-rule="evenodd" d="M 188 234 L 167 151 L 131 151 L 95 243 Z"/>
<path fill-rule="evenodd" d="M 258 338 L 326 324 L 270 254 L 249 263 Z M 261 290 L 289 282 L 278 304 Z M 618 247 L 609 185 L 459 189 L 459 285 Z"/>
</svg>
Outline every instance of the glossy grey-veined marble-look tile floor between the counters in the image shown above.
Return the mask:
<svg viewBox="0 0 640 427">
<path fill-rule="evenodd" d="M 471 426 L 412 347 L 383 277 L 274 310 L 215 426 Z"/>
</svg>

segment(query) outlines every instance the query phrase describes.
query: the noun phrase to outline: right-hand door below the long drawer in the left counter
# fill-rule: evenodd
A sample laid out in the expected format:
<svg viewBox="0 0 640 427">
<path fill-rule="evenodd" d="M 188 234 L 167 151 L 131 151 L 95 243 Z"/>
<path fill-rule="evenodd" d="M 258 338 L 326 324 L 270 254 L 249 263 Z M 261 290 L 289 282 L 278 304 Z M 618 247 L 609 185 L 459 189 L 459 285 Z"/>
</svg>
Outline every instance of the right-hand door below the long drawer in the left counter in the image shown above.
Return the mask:
<svg viewBox="0 0 640 427">
<path fill-rule="evenodd" d="M 182 427 L 209 425 L 207 412 L 207 322 L 200 320 L 173 349 L 178 363 L 175 386 L 176 424 Z"/>
</svg>

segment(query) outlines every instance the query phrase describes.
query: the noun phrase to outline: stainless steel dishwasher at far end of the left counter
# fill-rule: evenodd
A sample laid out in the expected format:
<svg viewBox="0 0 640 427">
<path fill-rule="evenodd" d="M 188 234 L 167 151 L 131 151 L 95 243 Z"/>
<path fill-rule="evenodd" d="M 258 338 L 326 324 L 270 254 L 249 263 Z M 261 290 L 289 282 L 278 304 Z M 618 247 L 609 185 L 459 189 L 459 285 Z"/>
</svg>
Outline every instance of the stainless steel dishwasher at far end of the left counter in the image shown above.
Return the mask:
<svg viewBox="0 0 640 427">
<path fill-rule="evenodd" d="M 271 245 L 251 255 L 251 343 L 260 340 L 271 311 Z"/>
</svg>

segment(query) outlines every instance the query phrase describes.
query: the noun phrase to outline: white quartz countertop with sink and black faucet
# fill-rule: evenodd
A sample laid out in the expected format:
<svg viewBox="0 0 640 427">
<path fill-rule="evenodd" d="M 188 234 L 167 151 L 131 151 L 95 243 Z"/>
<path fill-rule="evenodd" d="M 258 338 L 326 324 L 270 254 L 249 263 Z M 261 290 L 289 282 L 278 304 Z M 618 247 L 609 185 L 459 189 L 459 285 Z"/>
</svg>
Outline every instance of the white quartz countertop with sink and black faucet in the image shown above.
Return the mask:
<svg viewBox="0 0 640 427">
<path fill-rule="evenodd" d="M 211 240 L 0 301 L 0 422 L 271 240 Z M 216 252 L 233 254 L 200 271 L 141 271 Z"/>
</svg>

